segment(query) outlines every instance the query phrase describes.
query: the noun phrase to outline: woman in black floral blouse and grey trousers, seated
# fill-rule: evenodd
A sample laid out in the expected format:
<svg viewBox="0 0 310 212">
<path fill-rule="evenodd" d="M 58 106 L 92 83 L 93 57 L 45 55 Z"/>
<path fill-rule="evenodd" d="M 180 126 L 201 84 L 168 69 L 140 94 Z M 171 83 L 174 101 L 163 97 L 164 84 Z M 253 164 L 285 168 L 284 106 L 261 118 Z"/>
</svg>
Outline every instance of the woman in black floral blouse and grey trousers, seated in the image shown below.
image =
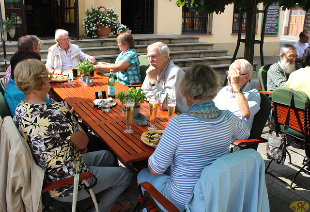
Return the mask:
<svg viewBox="0 0 310 212">
<path fill-rule="evenodd" d="M 26 98 L 17 105 L 14 121 L 26 136 L 35 162 L 45 170 L 45 181 L 51 182 L 92 172 L 98 182 L 94 193 L 104 191 L 98 205 L 100 211 L 126 211 L 128 203 L 116 204 L 116 198 L 130 183 L 131 174 L 123 167 L 112 167 L 114 158 L 109 151 L 101 150 L 80 154 L 87 147 L 88 138 L 70 111 L 59 103 L 46 103 L 49 77 L 46 66 L 39 60 L 28 59 L 16 65 L 16 87 Z M 89 179 L 93 183 L 94 179 Z M 90 195 L 79 185 L 78 200 Z M 108 189 L 109 188 L 109 189 Z M 73 185 L 49 192 L 59 201 L 72 201 Z"/>
</svg>

